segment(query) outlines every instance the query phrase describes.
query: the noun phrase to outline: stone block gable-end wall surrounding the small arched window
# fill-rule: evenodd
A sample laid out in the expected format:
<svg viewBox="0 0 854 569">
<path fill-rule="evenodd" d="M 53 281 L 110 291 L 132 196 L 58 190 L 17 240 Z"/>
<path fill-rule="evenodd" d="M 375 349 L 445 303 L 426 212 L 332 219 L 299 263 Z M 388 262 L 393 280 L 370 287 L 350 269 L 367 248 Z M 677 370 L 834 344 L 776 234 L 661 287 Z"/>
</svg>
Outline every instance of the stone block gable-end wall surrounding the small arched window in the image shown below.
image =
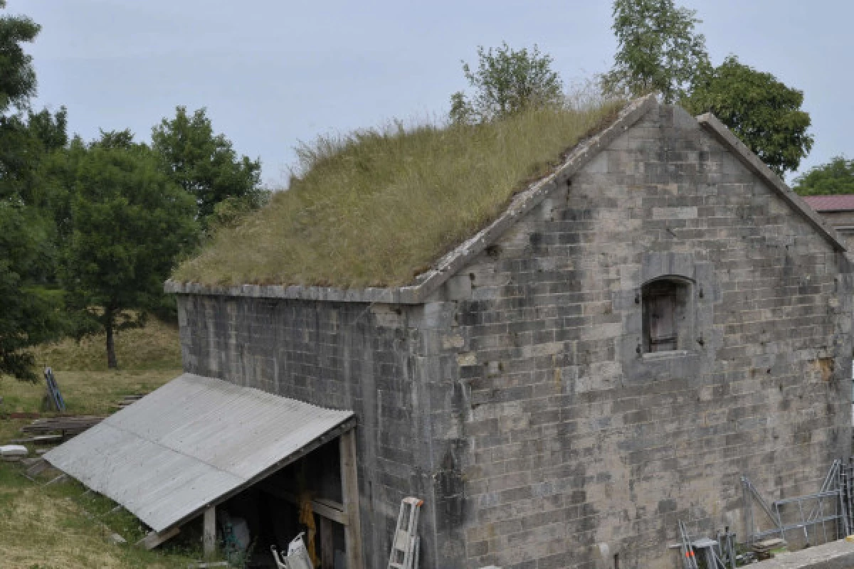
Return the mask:
<svg viewBox="0 0 854 569">
<path fill-rule="evenodd" d="M 693 345 L 639 353 L 665 275 L 693 282 Z M 678 566 L 677 520 L 746 537 L 742 474 L 797 496 L 850 452 L 849 261 L 680 108 L 454 278 L 459 566 Z"/>
</svg>

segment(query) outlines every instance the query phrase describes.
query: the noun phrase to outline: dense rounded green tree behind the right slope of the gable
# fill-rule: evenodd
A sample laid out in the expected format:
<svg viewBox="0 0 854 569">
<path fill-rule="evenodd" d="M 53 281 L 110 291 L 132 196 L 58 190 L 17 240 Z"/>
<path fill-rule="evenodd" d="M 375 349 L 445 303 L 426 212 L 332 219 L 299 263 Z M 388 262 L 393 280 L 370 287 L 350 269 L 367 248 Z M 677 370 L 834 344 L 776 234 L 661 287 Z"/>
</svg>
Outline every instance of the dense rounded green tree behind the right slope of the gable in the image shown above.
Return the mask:
<svg viewBox="0 0 854 569">
<path fill-rule="evenodd" d="M 779 176 L 797 170 L 812 148 L 803 102 L 801 91 L 743 65 L 734 55 L 699 77 L 690 96 L 680 101 L 691 113 L 714 113 Z"/>
</svg>

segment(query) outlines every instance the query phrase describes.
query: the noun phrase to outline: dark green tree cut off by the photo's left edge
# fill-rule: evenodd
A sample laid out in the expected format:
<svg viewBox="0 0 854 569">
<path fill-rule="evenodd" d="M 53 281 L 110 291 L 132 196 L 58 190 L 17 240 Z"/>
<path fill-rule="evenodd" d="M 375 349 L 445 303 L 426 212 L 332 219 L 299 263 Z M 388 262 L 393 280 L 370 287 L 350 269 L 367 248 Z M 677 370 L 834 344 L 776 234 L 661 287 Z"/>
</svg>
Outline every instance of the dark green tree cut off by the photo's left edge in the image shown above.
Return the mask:
<svg viewBox="0 0 854 569">
<path fill-rule="evenodd" d="M 0 15 L 0 374 L 22 380 L 36 379 L 26 348 L 61 329 L 55 303 L 38 286 L 50 271 L 53 247 L 49 220 L 32 206 L 32 189 L 35 164 L 52 144 L 46 123 L 64 132 L 64 115 L 56 115 L 56 124 L 46 112 L 24 118 L 36 74 L 22 44 L 38 30 L 26 16 Z"/>
</svg>

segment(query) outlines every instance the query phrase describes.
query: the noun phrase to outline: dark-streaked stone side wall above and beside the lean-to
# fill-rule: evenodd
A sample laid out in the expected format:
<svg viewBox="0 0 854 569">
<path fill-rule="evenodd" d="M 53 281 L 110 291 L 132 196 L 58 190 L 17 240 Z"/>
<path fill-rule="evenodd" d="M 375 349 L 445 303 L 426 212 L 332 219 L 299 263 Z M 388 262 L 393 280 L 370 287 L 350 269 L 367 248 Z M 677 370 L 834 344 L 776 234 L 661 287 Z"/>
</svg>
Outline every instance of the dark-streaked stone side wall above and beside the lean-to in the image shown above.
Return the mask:
<svg viewBox="0 0 854 569">
<path fill-rule="evenodd" d="M 405 496 L 425 498 L 422 557 L 436 539 L 429 438 L 412 358 L 436 318 L 424 307 L 178 295 L 184 370 L 357 415 L 366 567 L 384 566 Z"/>
</svg>

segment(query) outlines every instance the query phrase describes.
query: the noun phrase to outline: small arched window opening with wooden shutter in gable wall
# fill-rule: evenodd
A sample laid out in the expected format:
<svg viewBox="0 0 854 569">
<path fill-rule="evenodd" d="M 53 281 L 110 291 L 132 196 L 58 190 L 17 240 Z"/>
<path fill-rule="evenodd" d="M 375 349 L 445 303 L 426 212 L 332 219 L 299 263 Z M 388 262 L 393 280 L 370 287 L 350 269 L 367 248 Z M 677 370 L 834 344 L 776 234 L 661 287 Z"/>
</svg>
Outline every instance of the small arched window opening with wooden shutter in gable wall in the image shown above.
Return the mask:
<svg viewBox="0 0 854 569">
<path fill-rule="evenodd" d="M 662 277 L 647 282 L 643 299 L 645 352 L 687 350 L 691 335 L 691 282 Z"/>
</svg>

